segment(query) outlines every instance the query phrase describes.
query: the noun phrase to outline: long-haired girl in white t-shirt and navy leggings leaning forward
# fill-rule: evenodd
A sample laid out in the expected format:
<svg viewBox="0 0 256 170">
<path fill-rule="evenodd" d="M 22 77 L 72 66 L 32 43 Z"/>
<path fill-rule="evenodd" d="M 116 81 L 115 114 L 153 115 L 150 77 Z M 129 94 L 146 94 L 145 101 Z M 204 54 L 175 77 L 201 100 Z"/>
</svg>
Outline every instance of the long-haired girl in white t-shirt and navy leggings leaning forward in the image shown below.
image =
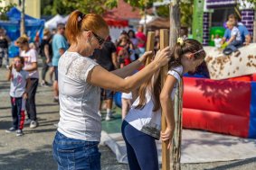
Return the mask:
<svg viewBox="0 0 256 170">
<path fill-rule="evenodd" d="M 178 39 L 172 49 L 169 71 L 161 91 L 159 71 L 141 85 L 137 100 L 132 104 L 122 123 L 126 142 L 128 165 L 132 170 L 157 170 L 158 158 L 155 139 L 168 141 L 168 148 L 175 130 L 174 97 L 182 75 L 194 72 L 204 61 L 205 52 L 197 40 Z M 167 128 L 161 130 L 161 107 L 166 116 Z M 149 154 L 148 154 L 149 153 Z"/>
</svg>

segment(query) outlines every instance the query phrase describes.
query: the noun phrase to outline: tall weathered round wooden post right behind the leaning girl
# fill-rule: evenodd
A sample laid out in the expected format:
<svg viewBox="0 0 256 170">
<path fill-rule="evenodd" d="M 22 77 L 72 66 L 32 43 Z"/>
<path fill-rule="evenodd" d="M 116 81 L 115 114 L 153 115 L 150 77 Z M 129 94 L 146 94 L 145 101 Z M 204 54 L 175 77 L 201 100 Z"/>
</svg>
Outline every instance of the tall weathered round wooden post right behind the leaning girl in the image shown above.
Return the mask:
<svg viewBox="0 0 256 170">
<path fill-rule="evenodd" d="M 179 0 L 173 0 L 170 10 L 170 48 L 175 46 L 180 30 Z M 175 133 L 172 142 L 172 169 L 180 170 L 181 137 L 182 137 L 182 85 L 179 84 L 175 94 Z"/>
</svg>

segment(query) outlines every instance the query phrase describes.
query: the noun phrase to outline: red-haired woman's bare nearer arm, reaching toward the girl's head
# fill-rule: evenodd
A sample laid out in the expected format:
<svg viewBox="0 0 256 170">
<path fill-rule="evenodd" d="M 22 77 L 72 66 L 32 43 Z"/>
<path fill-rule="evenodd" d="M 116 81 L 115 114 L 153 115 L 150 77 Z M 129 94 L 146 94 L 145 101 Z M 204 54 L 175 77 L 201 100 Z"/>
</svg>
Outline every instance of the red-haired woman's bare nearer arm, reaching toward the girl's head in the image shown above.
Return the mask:
<svg viewBox="0 0 256 170">
<path fill-rule="evenodd" d="M 90 72 L 87 81 L 92 85 L 97 85 L 105 89 L 129 93 L 137 88 L 143 82 L 147 81 L 159 67 L 165 66 L 169 60 L 170 49 L 166 48 L 156 54 L 156 58 L 147 67 L 127 79 L 123 79 L 115 74 L 110 73 L 104 68 L 97 66 Z M 140 63 L 140 61 L 137 61 Z M 127 70 L 130 71 L 130 70 Z M 123 73 L 123 76 L 126 76 Z"/>
</svg>

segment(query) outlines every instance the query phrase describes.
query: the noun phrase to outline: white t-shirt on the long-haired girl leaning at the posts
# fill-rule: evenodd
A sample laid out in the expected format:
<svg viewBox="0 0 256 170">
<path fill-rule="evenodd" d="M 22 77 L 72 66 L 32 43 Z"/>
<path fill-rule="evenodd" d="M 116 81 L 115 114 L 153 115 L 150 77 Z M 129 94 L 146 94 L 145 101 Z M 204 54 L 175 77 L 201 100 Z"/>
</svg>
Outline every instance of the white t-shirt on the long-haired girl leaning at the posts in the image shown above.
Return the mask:
<svg viewBox="0 0 256 170">
<path fill-rule="evenodd" d="M 168 71 L 168 75 L 174 76 L 177 79 L 177 83 L 174 86 L 172 94 L 170 94 L 172 100 L 174 100 L 175 98 L 175 92 L 178 86 L 178 82 L 181 81 L 181 77 L 179 75 L 182 74 L 182 66 L 172 68 Z M 146 100 L 147 101 L 143 109 L 136 109 L 136 106 L 139 103 L 139 97 L 137 97 L 136 101 L 132 104 L 128 115 L 125 117 L 124 120 L 128 121 L 128 123 L 135 129 L 140 130 L 156 139 L 159 139 L 161 130 L 161 109 L 153 112 L 154 103 L 151 93 L 148 89 L 146 93 Z"/>
</svg>

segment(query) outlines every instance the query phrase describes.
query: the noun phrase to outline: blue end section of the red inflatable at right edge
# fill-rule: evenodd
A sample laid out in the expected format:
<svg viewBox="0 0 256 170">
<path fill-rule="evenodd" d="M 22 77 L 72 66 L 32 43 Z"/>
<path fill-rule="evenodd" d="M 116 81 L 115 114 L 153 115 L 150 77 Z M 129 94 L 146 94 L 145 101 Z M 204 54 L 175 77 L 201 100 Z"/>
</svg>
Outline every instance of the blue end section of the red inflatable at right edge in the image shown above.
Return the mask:
<svg viewBox="0 0 256 170">
<path fill-rule="evenodd" d="M 248 138 L 256 138 L 256 82 L 251 82 L 250 125 Z"/>
</svg>

